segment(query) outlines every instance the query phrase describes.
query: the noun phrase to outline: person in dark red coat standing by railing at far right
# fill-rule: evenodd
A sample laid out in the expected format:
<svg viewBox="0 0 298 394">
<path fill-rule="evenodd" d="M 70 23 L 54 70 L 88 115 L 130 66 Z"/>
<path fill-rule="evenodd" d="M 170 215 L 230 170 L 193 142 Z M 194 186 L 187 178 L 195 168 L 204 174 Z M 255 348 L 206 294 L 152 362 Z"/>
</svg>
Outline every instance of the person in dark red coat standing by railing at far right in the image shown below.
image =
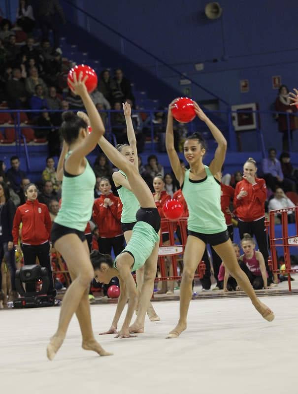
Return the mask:
<svg viewBox="0 0 298 394">
<path fill-rule="evenodd" d="M 292 114 L 297 112 L 295 105 L 290 105 L 291 100 L 289 99 L 289 89 L 286 85 L 281 85 L 278 90 L 278 96 L 275 100 L 275 110 L 280 112 L 288 112 Z M 291 140 L 293 140 L 293 130 L 295 130 L 295 116 L 288 116 L 284 114 L 278 114 L 278 131 L 283 133 L 282 145 L 284 151 L 289 151 L 289 140 L 288 140 L 288 124 L 290 128 Z"/>
</svg>

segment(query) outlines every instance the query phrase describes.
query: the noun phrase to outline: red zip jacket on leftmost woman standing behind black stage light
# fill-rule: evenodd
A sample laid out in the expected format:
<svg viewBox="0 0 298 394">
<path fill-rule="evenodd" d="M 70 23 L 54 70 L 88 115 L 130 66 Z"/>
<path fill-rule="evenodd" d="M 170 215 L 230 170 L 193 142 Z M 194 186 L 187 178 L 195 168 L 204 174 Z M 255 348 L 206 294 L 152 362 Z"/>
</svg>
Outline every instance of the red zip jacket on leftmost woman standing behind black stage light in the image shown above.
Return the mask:
<svg viewBox="0 0 298 394">
<path fill-rule="evenodd" d="M 37 199 L 26 201 L 16 210 L 12 236 L 14 245 L 18 244 L 19 228 L 22 227 L 22 240 L 25 245 L 41 245 L 50 241 L 52 221 L 48 207 Z"/>
</svg>

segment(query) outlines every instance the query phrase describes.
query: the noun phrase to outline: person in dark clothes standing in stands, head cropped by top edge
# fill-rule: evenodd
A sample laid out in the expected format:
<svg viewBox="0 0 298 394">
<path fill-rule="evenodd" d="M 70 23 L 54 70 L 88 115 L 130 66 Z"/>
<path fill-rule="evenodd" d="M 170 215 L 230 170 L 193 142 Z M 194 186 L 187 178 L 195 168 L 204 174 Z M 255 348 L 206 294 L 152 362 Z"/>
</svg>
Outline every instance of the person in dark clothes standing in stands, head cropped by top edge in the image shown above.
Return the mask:
<svg viewBox="0 0 298 394">
<path fill-rule="evenodd" d="M 60 16 L 62 23 L 66 23 L 63 8 L 59 0 L 39 0 L 38 20 L 42 31 L 42 40 L 49 39 L 49 30 L 53 31 L 54 48 L 59 48 L 59 31 L 56 15 Z"/>
</svg>

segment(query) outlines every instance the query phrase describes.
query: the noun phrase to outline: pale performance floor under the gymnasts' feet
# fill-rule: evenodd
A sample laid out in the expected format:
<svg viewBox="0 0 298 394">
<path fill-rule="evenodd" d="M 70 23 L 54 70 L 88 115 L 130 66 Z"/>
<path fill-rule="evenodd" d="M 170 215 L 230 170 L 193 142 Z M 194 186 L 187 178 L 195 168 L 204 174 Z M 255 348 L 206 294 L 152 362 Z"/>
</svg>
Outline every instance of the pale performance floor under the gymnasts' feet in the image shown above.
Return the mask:
<svg viewBox="0 0 298 394">
<path fill-rule="evenodd" d="M 109 328 L 115 305 L 93 305 L 97 338 L 114 356 L 80 348 L 74 318 L 54 361 L 46 345 L 60 308 L 0 311 L 0 391 L 56 393 L 298 393 L 298 297 L 263 297 L 276 318 L 266 322 L 248 298 L 191 302 L 189 326 L 165 339 L 178 318 L 177 301 L 155 302 L 162 321 L 146 321 L 131 339 L 98 336 Z"/>
</svg>

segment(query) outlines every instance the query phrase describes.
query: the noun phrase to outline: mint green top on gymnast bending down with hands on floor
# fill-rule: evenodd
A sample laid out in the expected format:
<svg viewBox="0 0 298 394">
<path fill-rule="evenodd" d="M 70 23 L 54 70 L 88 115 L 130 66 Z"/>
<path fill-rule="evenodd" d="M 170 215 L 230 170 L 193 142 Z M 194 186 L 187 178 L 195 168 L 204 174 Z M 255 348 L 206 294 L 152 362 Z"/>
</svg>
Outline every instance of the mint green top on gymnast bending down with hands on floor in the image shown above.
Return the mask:
<svg viewBox="0 0 298 394">
<path fill-rule="evenodd" d="M 131 272 L 136 271 L 146 263 L 146 260 L 151 255 L 159 239 L 159 235 L 149 223 L 142 221 L 136 222 L 132 229 L 132 237 L 126 248 L 121 252 L 128 252 L 132 255 L 134 263 Z M 114 268 L 116 269 L 116 262 L 120 255 L 118 255 L 114 261 Z"/>
</svg>

